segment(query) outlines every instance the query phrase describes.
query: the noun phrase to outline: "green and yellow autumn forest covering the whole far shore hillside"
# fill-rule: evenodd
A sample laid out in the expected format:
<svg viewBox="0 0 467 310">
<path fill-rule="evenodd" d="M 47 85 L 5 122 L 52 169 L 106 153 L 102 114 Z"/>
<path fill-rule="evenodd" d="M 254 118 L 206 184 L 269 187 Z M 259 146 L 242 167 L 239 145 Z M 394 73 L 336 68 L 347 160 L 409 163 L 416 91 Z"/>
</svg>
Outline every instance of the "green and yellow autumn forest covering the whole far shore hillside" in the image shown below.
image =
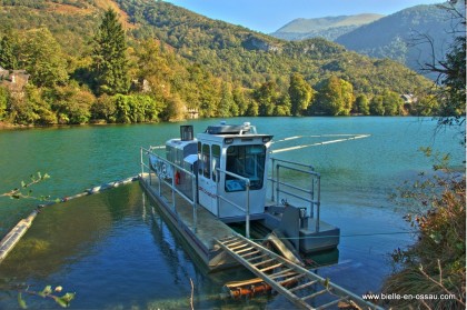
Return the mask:
<svg viewBox="0 0 467 310">
<path fill-rule="evenodd" d="M 433 82 L 400 63 L 163 1 L 2 0 L 0 18 L 3 123 L 440 113 Z"/>
</svg>

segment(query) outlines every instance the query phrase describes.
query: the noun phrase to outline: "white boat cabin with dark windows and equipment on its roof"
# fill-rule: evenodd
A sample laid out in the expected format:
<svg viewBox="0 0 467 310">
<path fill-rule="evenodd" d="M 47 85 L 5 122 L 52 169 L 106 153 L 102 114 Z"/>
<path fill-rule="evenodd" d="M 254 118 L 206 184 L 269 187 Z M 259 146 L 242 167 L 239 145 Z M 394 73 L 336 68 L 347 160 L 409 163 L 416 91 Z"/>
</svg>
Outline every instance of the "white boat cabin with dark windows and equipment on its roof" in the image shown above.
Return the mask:
<svg viewBox="0 0 467 310">
<path fill-rule="evenodd" d="M 245 208 L 250 214 L 265 212 L 272 136 L 258 134 L 248 122 L 209 126 L 196 139 L 191 126 L 182 126 L 180 133 L 167 141 L 166 157 L 197 176 L 200 206 L 223 221 L 245 218 Z M 176 173 L 176 184 L 182 186 L 183 174 Z"/>
</svg>

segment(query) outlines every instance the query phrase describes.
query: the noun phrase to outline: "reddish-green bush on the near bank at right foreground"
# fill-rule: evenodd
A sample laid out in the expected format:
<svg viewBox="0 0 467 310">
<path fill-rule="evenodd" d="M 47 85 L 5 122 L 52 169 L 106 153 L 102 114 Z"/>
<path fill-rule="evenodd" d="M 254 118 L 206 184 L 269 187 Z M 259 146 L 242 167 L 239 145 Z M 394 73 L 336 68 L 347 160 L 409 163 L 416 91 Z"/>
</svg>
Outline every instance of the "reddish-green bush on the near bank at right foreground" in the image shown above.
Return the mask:
<svg viewBox="0 0 467 310">
<path fill-rule="evenodd" d="M 430 149 L 426 149 L 429 154 Z M 466 307 L 466 179 L 450 171 L 444 157 L 435 174 L 400 191 L 414 210 L 406 219 L 418 228 L 418 241 L 397 249 L 397 270 L 387 279 L 385 293 L 429 294 L 437 299 L 391 300 L 397 308 L 465 309 Z M 454 294 L 455 299 L 440 299 Z M 417 304 L 419 303 L 419 304 Z"/>
</svg>

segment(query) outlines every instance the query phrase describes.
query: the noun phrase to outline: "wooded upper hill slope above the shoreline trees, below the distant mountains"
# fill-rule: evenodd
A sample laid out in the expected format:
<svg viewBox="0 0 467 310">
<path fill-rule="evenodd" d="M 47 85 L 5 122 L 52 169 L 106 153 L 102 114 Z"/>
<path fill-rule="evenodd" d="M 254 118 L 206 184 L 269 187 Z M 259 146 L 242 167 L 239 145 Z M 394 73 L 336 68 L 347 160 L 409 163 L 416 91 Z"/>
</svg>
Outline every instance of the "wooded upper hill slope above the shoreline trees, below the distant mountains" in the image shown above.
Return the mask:
<svg viewBox="0 0 467 310">
<path fill-rule="evenodd" d="M 406 68 L 397 63 L 371 60 L 341 46 L 322 39 L 288 42 L 248 29 L 215 21 L 166 2 L 141 8 L 141 16 L 152 26 L 157 38 L 176 48 L 191 61 L 203 63 L 216 74 L 241 79 L 244 86 L 265 82 L 270 77 L 288 79 L 300 72 L 312 84 L 330 74 L 346 76 L 356 81 L 375 74 L 371 88 L 386 88 L 388 81 L 378 81 L 385 70 L 398 71 L 390 87 L 401 91 L 413 88 L 405 81 L 413 79 Z M 359 66 L 365 63 L 365 66 Z M 389 68 L 390 67 L 390 68 Z M 367 71 L 362 72 L 362 69 Z M 396 80 L 397 79 L 397 80 Z M 415 78 L 418 79 L 418 78 Z M 420 84 L 420 81 L 415 84 Z M 358 82 L 356 83 L 358 86 Z M 357 91 L 362 89 L 357 87 Z"/>
</svg>

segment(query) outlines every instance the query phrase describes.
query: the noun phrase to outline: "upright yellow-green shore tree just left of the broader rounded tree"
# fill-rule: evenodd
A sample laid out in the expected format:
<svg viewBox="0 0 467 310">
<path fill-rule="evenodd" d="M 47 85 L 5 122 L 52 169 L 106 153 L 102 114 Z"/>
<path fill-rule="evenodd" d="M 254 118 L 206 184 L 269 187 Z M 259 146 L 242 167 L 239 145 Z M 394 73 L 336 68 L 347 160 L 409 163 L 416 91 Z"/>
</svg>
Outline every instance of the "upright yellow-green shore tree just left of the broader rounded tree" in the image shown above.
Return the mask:
<svg viewBox="0 0 467 310">
<path fill-rule="evenodd" d="M 311 101 L 312 89 L 299 73 L 290 76 L 289 97 L 291 114 L 295 117 L 301 116 Z"/>
</svg>

